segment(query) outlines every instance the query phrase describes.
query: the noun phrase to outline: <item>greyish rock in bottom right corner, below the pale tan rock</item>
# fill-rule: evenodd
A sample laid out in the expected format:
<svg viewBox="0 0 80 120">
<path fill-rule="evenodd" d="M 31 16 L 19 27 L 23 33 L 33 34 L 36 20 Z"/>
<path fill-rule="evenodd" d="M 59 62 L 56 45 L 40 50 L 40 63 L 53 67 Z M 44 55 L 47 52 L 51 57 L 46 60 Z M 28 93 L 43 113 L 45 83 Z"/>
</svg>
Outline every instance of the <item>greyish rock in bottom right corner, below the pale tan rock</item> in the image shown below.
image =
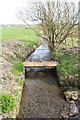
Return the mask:
<svg viewBox="0 0 80 120">
<path fill-rule="evenodd" d="M 78 115 L 79 111 L 75 103 L 71 103 L 69 109 L 70 109 L 69 110 L 70 117 Z"/>
</svg>

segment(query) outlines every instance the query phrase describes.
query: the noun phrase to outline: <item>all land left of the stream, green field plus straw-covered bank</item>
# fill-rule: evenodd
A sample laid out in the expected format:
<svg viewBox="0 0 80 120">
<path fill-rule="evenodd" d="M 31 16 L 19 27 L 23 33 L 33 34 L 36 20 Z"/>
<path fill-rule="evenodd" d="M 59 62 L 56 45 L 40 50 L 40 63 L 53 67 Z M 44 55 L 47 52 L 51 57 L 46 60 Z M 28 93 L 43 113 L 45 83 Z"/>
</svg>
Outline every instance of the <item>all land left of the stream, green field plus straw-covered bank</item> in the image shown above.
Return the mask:
<svg viewBox="0 0 80 120">
<path fill-rule="evenodd" d="M 25 50 L 30 54 L 40 44 L 40 40 L 31 29 L 25 27 L 4 27 L 2 33 L 0 114 L 3 118 L 15 118 L 25 82 L 22 64 L 25 60 Z"/>
</svg>

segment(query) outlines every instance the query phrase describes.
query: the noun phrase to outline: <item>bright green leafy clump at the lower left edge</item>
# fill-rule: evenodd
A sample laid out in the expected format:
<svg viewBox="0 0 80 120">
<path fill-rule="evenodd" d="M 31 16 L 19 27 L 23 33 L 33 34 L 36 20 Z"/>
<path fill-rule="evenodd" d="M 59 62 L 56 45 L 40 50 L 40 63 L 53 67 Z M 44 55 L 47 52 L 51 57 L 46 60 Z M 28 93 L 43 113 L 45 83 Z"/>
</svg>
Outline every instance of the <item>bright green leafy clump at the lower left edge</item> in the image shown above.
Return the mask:
<svg viewBox="0 0 80 120">
<path fill-rule="evenodd" d="M 2 113 L 8 113 L 15 107 L 15 99 L 10 94 L 2 94 L 0 97 Z"/>
</svg>

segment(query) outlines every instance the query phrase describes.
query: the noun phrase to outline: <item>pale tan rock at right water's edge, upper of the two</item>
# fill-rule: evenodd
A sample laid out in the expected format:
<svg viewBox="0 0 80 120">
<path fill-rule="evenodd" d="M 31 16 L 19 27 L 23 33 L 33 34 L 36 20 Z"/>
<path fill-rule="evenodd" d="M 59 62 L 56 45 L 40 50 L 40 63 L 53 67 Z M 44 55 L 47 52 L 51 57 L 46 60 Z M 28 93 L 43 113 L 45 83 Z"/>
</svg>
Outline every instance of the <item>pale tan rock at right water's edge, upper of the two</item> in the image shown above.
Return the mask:
<svg viewBox="0 0 80 120">
<path fill-rule="evenodd" d="M 78 100 L 78 96 L 79 96 L 77 90 L 70 90 L 70 91 L 68 90 L 68 91 L 65 91 L 64 95 L 65 95 L 65 98 L 67 100 L 70 100 L 70 99 L 72 99 L 72 100 Z"/>
</svg>

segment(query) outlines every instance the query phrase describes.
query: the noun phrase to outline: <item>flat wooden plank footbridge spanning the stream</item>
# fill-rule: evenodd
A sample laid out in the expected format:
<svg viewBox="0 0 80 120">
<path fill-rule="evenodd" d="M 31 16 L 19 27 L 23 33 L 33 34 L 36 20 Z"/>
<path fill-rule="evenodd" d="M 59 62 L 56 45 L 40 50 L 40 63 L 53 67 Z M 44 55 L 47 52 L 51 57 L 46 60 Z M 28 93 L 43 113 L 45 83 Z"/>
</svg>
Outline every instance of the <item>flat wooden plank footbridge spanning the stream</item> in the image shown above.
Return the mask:
<svg viewBox="0 0 80 120">
<path fill-rule="evenodd" d="M 45 61 L 45 62 L 23 62 L 25 68 L 27 67 L 56 67 L 58 62 L 56 61 Z"/>
</svg>

